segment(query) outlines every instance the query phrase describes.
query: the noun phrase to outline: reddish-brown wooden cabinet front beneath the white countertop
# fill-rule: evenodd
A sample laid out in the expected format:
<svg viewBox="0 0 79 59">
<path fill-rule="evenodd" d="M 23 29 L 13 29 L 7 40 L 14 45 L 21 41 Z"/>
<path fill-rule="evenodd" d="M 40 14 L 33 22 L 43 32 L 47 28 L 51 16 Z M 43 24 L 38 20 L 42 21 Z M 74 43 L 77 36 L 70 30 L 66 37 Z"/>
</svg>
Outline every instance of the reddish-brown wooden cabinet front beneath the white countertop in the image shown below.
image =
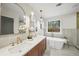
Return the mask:
<svg viewBox="0 0 79 59">
<path fill-rule="evenodd" d="M 38 43 L 34 48 L 32 48 L 24 56 L 42 56 L 46 50 L 46 38 Z"/>
</svg>

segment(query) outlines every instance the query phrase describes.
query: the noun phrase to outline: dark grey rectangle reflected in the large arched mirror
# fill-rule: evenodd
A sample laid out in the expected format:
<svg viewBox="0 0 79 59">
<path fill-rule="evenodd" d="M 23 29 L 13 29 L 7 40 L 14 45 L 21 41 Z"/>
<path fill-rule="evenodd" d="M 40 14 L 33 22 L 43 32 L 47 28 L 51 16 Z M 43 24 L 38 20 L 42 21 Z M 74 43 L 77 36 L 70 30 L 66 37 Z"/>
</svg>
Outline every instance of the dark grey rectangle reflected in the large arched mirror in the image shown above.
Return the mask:
<svg viewBox="0 0 79 59">
<path fill-rule="evenodd" d="M 1 16 L 1 33 L 4 34 L 13 34 L 14 29 L 14 18 Z"/>
</svg>

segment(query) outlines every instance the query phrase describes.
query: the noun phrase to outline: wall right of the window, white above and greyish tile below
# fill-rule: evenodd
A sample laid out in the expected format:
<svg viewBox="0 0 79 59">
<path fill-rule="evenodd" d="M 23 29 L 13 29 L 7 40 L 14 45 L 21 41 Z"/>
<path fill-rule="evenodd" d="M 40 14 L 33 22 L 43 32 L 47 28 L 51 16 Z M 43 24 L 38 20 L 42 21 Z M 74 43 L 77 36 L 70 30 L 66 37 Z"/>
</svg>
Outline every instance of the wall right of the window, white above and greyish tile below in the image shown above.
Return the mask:
<svg viewBox="0 0 79 59">
<path fill-rule="evenodd" d="M 63 35 L 68 38 L 71 45 L 77 44 L 77 30 L 76 30 L 76 13 L 61 16 L 63 22 Z"/>
</svg>

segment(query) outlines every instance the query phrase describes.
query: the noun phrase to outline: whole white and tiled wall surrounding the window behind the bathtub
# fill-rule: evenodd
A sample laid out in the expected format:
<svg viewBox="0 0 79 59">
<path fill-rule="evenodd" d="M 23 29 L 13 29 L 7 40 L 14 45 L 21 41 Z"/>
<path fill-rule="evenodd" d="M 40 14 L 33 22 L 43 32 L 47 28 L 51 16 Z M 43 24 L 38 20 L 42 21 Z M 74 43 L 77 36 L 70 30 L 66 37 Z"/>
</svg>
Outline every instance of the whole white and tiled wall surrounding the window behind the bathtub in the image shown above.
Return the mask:
<svg viewBox="0 0 79 59">
<path fill-rule="evenodd" d="M 48 21 L 60 20 L 61 31 L 59 33 L 48 32 Z M 63 37 L 66 36 L 70 41 L 70 44 L 76 45 L 76 13 L 70 13 L 66 15 L 56 16 L 45 19 L 45 35 Z"/>
</svg>

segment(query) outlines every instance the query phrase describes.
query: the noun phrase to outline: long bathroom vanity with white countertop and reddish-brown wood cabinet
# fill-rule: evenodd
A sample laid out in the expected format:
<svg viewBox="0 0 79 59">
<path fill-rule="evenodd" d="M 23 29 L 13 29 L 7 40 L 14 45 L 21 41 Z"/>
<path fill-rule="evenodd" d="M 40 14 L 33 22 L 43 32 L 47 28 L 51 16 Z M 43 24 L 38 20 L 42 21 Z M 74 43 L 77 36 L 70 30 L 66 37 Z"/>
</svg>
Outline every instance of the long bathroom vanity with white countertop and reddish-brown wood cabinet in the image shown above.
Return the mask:
<svg viewBox="0 0 79 59">
<path fill-rule="evenodd" d="M 32 40 L 25 39 L 15 46 L 0 49 L 0 56 L 42 56 L 46 50 L 46 37 L 36 36 Z"/>
</svg>

